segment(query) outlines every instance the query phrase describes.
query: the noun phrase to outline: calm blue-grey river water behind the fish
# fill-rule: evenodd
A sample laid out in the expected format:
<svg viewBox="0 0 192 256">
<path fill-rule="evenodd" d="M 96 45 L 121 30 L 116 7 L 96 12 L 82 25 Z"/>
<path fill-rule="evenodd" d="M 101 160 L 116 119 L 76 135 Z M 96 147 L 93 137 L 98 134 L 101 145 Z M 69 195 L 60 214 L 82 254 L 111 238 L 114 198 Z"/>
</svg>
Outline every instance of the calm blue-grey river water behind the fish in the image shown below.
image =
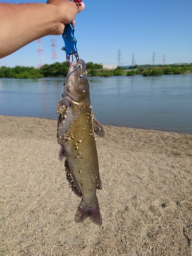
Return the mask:
<svg viewBox="0 0 192 256">
<path fill-rule="evenodd" d="M 90 80 L 103 124 L 192 134 L 192 75 L 113 76 Z M 0 115 L 57 119 L 64 78 L 0 79 Z"/>
</svg>

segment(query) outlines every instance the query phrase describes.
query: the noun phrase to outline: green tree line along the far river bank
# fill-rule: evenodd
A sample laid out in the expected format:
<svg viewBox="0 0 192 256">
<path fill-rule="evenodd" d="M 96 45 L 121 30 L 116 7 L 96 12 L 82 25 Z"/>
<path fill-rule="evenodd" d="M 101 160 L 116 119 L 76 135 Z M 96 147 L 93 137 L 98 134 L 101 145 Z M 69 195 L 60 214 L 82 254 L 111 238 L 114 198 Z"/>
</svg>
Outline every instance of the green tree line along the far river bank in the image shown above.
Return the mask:
<svg viewBox="0 0 192 256">
<path fill-rule="evenodd" d="M 164 66 L 131 66 L 127 68 L 117 67 L 114 70 L 103 69 L 102 65 L 88 62 L 86 63 L 88 76 L 160 76 L 192 73 L 192 63 L 183 63 L 181 65 L 164 65 Z M 34 67 L 16 66 L 9 68 L 2 66 L 0 68 L 0 78 L 42 78 L 42 77 L 66 77 L 69 70 L 67 61 L 44 65 L 38 69 Z"/>
</svg>

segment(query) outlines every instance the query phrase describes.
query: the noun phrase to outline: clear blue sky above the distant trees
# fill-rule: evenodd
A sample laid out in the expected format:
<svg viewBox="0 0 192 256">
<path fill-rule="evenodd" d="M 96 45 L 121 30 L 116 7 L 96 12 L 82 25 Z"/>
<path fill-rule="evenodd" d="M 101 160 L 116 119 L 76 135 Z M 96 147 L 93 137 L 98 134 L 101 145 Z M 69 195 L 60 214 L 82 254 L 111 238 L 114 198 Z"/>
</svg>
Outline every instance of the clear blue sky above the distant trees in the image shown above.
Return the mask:
<svg viewBox="0 0 192 256">
<path fill-rule="evenodd" d="M 44 0 L 2 1 L 46 3 Z M 77 14 L 75 33 L 79 57 L 103 65 L 137 65 L 192 62 L 191 0 L 84 0 Z M 10 36 L 10 40 L 14 40 Z M 62 36 L 55 36 L 58 61 L 66 61 Z M 53 63 L 51 35 L 41 38 L 44 58 Z M 119 57 L 119 58 L 118 58 Z M 37 41 L 0 59 L 0 67 L 37 67 Z"/>
</svg>

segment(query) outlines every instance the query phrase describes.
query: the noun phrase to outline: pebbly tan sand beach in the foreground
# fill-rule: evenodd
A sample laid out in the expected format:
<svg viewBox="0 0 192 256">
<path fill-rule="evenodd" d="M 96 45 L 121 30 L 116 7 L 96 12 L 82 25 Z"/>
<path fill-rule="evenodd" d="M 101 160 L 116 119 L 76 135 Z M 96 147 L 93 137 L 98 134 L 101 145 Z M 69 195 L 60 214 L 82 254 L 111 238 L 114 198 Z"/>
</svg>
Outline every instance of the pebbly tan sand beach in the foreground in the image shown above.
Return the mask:
<svg viewBox="0 0 192 256">
<path fill-rule="evenodd" d="M 192 255 L 192 136 L 104 126 L 103 224 L 58 160 L 57 120 L 0 116 L 0 255 Z"/>
</svg>

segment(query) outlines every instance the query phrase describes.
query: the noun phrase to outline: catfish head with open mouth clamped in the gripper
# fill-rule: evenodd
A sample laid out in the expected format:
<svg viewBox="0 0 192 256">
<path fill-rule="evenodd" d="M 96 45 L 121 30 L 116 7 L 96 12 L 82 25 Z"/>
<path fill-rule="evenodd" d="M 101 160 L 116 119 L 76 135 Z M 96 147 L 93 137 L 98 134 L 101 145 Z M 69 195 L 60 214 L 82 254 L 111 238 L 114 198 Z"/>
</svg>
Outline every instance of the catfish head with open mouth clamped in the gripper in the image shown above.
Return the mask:
<svg viewBox="0 0 192 256">
<path fill-rule="evenodd" d="M 65 82 L 64 95 L 78 103 L 90 101 L 90 88 L 84 60 L 72 61 Z"/>
</svg>

